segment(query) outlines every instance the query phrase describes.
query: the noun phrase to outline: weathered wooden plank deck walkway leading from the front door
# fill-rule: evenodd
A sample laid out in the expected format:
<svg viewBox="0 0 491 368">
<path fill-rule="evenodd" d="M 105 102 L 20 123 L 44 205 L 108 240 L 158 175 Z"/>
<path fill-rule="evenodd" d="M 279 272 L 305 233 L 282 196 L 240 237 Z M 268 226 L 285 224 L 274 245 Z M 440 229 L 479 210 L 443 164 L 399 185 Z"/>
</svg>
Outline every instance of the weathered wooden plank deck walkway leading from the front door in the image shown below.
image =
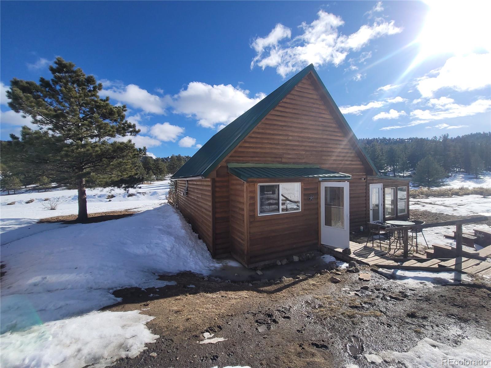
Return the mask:
<svg viewBox="0 0 491 368">
<path fill-rule="evenodd" d="M 375 249 L 365 244 L 350 241 L 351 254 L 342 253 L 341 248 L 323 245 L 324 250 L 336 258 L 344 261 L 355 261 L 357 263 L 377 266 L 381 268 L 399 268 L 420 271 L 459 271 L 463 273 L 478 274 L 482 276 L 491 275 L 491 262 L 460 259 L 427 259 L 427 258 L 393 258 L 387 252 Z"/>
</svg>

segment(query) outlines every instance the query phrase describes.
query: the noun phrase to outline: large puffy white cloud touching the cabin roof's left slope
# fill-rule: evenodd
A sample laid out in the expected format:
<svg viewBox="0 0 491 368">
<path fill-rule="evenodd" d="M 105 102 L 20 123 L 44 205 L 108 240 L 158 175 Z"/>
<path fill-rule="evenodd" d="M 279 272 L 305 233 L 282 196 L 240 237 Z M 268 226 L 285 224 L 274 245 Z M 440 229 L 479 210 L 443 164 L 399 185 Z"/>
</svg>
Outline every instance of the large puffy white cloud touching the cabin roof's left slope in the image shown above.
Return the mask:
<svg viewBox="0 0 491 368">
<path fill-rule="evenodd" d="M 198 120 L 202 127 L 216 128 L 226 126 L 265 96 L 260 93 L 250 98 L 248 90 L 231 84 L 191 82 L 173 97 L 173 107 L 175 113 Z"/>
</svg>

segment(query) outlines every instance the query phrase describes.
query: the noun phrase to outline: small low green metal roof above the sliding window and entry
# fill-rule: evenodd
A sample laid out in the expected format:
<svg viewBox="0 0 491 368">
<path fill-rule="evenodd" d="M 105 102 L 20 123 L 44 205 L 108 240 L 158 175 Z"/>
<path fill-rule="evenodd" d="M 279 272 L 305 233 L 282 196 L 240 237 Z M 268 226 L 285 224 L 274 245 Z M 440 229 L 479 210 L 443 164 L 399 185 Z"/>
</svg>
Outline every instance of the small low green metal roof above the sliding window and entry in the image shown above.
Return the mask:
<svg viewBox="0 0 491 368">
<path fill-rule="evenodd" d="M 351 175 L 338 173 L 332 170 L 321 169 L 319 167 L 228 167 L 228 172 L 237 178 L 247 181 L 247 179 L 261 178 L 319 178 L 323 179 L 351 179 Z"/>
</svg>

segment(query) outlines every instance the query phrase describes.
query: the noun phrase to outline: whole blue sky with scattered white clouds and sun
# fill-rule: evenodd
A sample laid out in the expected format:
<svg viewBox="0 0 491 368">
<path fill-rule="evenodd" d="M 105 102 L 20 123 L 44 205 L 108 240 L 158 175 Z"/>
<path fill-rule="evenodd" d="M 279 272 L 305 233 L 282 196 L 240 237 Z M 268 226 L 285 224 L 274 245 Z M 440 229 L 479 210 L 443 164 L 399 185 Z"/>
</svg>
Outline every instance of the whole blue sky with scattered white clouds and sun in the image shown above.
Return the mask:
<svg viewBox="0 0 491 368">
<path fill-rule="evenodd" d="M 444 5 L 443 5 L 444 4 Z M 359 137 L 489 131 L 489 2 L 2 1 L 0 136 L 12 78 L 56 56 L 104 84 L 151 154 L 192 155 L 314 63 Z"/>
</svg>

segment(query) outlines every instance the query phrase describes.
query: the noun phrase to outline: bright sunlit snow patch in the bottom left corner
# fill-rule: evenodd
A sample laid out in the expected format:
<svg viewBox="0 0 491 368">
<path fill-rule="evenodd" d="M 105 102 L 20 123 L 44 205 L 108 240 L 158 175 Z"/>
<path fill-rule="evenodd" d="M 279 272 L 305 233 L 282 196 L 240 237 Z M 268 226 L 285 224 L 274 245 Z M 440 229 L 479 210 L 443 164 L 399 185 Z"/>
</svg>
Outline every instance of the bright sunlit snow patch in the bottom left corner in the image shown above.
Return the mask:
<svg viewBox="0 0 491 368">
<path fill-rule="evenodd" d="M 7 332 L 1 336 L 1 366 L 106 367 L 135 358 L 159 337 L 145 326 L 154 317 L 138 313 L 92 312 Z"/>
</svg>

